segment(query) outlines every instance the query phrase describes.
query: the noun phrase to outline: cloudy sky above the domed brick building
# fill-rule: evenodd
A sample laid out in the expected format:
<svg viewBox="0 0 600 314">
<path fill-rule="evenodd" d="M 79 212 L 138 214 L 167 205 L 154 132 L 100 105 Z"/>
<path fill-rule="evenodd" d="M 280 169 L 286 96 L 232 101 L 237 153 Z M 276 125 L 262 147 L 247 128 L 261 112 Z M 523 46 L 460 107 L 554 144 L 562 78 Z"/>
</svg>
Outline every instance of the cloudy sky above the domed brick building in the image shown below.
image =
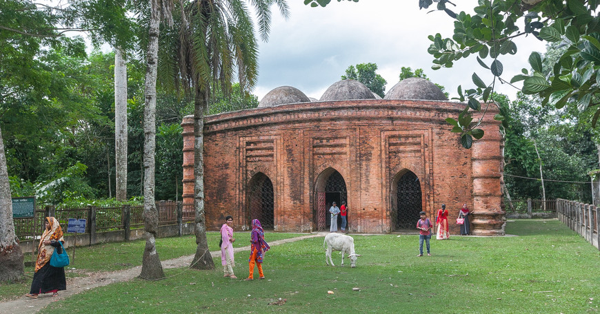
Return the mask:
<svg viewBox="0 0 600 314">
<path fill-rule="evenodd" d="M 454 12 L 472 14 L 477 0 L 460 3 Z M 418 0 L 360 0 L 332 2 L 326 8 L 305 6 L 303 0 L 288 0 L 290 18 L 285 20 L 273 7 L 268 42 L 260 43 L 259 80 L 254 94 L 259 100 L 275 87 L 297 87 L 306 96 L 321 98 L 325 90 L 340 80 L 349 65 L 377 63 L 388 84 L 398 82 L 401 67 L 422 68 L 434 83 L 446 87 L 450 97 L 457 96 L 458 85 L 473 87 L 471 75 L 477 72 L 491 82 L 489 70 L 474 56 L 454 63 L 451 69 L 431 70 L 432 56 L 427 53 L 430 34 L 452 36 L 452 19 L 443 12 L 419 10 Z M 522 24 L 517 24 L 522 29 Z M 517 41 L 516 56 L 501 56 L 503 78 L 530 68 L 532 51 L 544 52 L 544 45 L 532 37 Z M 490 63 L 490 61 L 488 61 Z M 497 87 L 511 99 L 517 90 L 508 85 Z"/>
</svg>

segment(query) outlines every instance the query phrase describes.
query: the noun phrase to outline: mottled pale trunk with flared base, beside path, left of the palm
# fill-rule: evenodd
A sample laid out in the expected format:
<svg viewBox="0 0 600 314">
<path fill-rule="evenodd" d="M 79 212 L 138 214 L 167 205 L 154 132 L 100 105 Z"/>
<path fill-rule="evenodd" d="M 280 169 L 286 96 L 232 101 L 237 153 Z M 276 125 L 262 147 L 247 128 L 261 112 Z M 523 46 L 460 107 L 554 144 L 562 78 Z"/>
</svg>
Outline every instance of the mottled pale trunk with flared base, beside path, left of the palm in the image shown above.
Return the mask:
<svg viewBox="0 0 600 314">
<path fill-rule="evenodd" d="M 140 278 L 154 280 L 164 278 L 163 266 L 156 249 L 159 217 L 154 202 L 154 151 L 156 148 L 157 65 L 159 50 L 160 6 L 158 0 L 150 0 L 150 28 L 148 30 L 148 67 L 143 110 L 143 230 L 146 247 L 143 250 Z"/>
</svg>

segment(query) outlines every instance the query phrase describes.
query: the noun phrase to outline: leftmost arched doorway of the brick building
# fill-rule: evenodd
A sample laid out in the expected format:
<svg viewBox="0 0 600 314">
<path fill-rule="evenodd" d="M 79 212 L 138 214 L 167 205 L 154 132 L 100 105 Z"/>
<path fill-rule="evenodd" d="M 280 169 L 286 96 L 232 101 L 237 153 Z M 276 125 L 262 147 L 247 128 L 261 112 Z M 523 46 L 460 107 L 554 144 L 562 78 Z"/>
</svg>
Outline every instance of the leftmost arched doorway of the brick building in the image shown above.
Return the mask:
<svg viewBox="0 0 600 314">
<path fill-rule="evenodd" d="M 273 183 L 266 174 L 259 172 L 248 182 L 248 226 L 252 220 L 260 220 L 263 229 L 274 227 L 274 193 Z"/>
</svg>

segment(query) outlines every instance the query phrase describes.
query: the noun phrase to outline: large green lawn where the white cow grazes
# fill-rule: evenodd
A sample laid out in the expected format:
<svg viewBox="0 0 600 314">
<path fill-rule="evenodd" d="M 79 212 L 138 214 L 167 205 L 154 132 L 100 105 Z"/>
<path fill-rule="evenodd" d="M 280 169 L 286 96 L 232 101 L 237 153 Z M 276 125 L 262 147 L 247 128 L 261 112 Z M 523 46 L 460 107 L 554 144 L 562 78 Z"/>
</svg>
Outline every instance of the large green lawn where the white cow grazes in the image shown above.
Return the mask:
<svg viewBox="0 0 600 314">
<path fill-rule="evenodd" d="M 454 235 L 432 240 L 433 256 L 421 258 L 417 235 L 354 235 L 357 253 L 363 255 L 355 269 L 339 266 L 337 253 L 338 266 L 326 266 L 323 238 L 311 238 L 273 247 L 265 258 L 267 280 L 223 278 L 220 267 L 190 270 L 157 282 L 136 279 L 103 286 L 52 302 L 41 313 L 600 311 L 596 248 L 558 220 L 517 220 L 508 222 L 506 231 L 519 236 Z M 247 274 L 247 258 L 247 252 L 237 253 L 240 278 Z M 283 304 L 272 304 L 278 301 Z"/>
</svg>

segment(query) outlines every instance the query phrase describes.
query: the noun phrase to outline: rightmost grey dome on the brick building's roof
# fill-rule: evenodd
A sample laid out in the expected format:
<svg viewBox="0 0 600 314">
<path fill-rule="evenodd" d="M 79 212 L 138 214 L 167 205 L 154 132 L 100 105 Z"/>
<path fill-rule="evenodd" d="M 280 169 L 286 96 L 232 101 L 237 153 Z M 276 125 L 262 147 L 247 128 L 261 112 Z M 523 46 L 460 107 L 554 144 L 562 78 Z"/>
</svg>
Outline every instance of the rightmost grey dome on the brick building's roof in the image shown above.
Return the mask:
<svg viewBox="0 0 600 314">
<path fill-rule="evenodd" d="M 399 81 L 383 99 L 419 99 L 421 101 L 447 101 L 448 98 L 434 83 L 418 77 Z"/>
</svg>

